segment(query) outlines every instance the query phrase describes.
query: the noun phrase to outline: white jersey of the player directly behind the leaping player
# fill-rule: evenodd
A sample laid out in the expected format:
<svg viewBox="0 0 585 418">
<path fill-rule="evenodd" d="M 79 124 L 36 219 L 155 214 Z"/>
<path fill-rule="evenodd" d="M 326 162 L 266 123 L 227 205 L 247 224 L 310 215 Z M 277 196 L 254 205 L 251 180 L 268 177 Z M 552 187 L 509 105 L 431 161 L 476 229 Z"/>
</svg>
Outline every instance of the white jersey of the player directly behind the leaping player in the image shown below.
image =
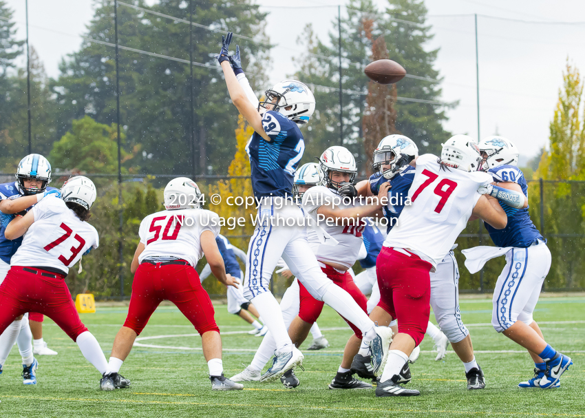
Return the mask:
<svg viewBox="0 0 585 418">
<path fill-rule="evenodd" d="M 317 209 L 322 205 L 332 205 L 335 208 L 347 209 L 353 205 L 345 205 L 341 202 L 341 196 L 336 191 L 325 186 L 314 186 L 308 189 L 303 195 L 303 209 L 310 214 L 313 220 L 317 220 Z M 341 220 L 338 221 L 341 223 Z M 361 237 L 365 226 L 336 226 L 334 220 L 324 220 L 319 218 L 319 227 L 324 229 L 332 238 L 335 238 L 339 244 L 326 245 L 321 244 L 317 232 L 308 227 L 307 238 L 310 247 L 321 262 L 334 262 L 342 264 L 345 267 L 352 267 L 359 254 L 363 238 Z"/>
</svg>

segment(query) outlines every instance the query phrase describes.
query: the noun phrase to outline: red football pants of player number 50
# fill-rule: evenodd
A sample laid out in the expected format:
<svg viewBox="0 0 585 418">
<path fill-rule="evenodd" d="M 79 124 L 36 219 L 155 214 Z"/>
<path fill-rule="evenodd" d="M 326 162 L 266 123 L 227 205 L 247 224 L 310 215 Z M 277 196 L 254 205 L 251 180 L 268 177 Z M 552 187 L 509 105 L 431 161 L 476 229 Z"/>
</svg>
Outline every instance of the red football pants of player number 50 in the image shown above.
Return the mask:
<svg viewBox="0 0 585 418">
<path fill-rule="evenodd" d="M 138 266 L 132 283 L 132 295 L 124 326 L 140 335 L 157 306 L 170 300 L 202 335 L 220 332 L 215 324 L 215 310 L 209 295 L 201 286 L 193 267 L 177 264 Z"/>
</svg>

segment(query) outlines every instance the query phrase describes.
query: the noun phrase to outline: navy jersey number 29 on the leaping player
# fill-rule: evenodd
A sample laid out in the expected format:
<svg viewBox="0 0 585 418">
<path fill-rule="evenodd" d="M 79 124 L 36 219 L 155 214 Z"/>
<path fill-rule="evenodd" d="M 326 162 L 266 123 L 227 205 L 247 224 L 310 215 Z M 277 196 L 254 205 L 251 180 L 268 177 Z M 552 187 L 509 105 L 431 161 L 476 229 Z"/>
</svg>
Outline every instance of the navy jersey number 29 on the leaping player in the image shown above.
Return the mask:
<svg viewBox="0 0 585 418">
<path fill-rule="evenodd" d="M 270 141 L 254 132 L 246 145 L 254 196 L 292 196 L 292 181 L 305 151 L 303 134 L 295 122 L 272 110 L 262 116 L 262 127 Z"/>
</svg>

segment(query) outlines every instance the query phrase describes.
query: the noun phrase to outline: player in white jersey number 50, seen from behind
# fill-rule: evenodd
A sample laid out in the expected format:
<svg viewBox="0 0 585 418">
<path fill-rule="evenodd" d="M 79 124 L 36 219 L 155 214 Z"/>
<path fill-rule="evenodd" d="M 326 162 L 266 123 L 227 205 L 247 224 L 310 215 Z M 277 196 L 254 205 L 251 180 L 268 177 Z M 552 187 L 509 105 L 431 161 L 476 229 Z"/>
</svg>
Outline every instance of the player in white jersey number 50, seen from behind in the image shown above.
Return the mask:
<svg viewBox="0 0 585 418">
<path fill-rule="evenodd" d="M 201 335 L 211 388 L 244 388 L 224 377 L 220 328 L 215 324 L 209 295 L 194 269 L 205 255 L 215 278 L 226 286 L 237 287 L 237 280 L 226 274 L 215 242 L 220 218 L 217 213 L 200 209 L 200 202 L 201 192 L 193 180 L 174 178 L 164 188 L 166 210 L 152 213 L 140 222 L 140 242 L 130 267 L 134 281 L 128 315 L 114 339 L 107 371 L 100 381 L 102 390 L 119 387 L 120 367 L 163 300 L 173 302 Z"/>
</svg>

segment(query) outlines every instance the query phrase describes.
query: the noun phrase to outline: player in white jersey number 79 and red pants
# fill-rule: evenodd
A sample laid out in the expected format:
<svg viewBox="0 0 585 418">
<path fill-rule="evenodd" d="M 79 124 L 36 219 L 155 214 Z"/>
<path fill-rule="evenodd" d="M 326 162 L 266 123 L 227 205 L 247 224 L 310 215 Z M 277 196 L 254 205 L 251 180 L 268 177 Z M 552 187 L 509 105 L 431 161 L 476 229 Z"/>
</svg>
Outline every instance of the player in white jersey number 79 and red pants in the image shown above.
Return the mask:
<svg viewBox="0 0 585 418">
<path fill-rule="evenodd" d="M 443 145 L 441 158 L 432 154 L 412 160 L 403 154 L 396 169 L 412 161 L 416 174 L 399 222 L 388 234 L 376 261 L 381 300 L 372 317 L 398 320 L 398 334 L 390 346 L 376 396 L 414 396 L 418 390 L 400 386 L 400 372 L 421 343 L 429 321 L 429 273 L 445 258 L 471 215 L 493 227 L 506 226 L 498 200 L 478 189 L 491 178 L 477 172 L 481 160 L 477 145 L 454 137 Z"/>
</svg>

